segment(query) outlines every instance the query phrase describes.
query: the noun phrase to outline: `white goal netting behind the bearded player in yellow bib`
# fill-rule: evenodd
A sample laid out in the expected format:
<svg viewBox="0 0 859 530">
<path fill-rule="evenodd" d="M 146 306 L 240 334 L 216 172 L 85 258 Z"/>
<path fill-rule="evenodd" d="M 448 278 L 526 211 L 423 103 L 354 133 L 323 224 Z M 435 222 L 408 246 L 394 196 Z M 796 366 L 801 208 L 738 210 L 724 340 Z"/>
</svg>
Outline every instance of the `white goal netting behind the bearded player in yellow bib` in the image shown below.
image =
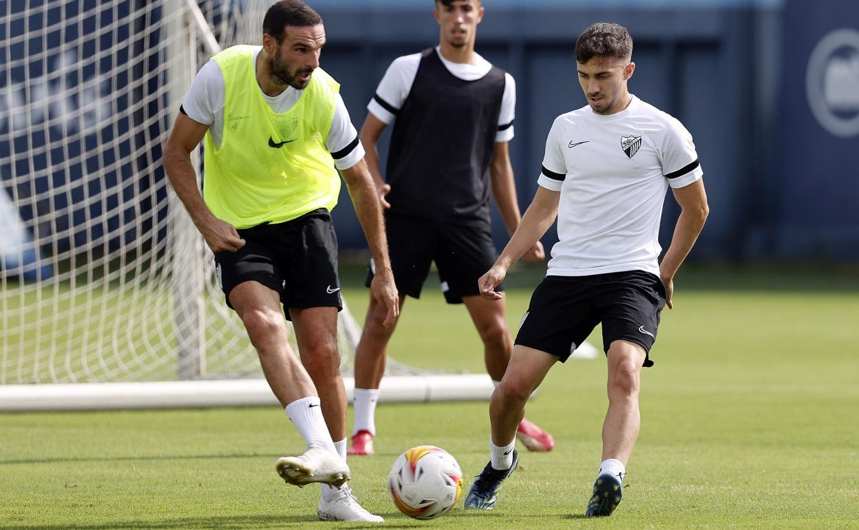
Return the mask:
<svg viewBox="0 0 859 530">
<path fill-rule="evenodd" d="M 268 4 L 197 5 L 230 46 Z M 0 3 L 0 384 L 259 375 L 161 166 L 211 54 L 188 7 Z"/>
</svg>

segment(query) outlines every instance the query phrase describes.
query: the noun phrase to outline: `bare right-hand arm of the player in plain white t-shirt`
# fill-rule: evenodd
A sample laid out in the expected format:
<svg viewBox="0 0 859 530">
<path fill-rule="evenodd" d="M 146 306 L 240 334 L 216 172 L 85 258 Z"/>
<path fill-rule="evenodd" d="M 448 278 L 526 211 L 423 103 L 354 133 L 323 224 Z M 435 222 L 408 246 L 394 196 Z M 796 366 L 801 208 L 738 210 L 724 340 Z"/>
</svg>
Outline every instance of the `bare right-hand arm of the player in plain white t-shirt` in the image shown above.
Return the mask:
<svg viewBox="0 0 859 530">
<path fill-rule="evenodd" d="M 671 245 L 668 246 L 665 257 L 659 265 L 659 275 L 662 283 L 665 284 L 666 305 L 669 309 L 674 307 L 671 300 L 674 291 L 674 275 L 695 245 L 710 213 L 707 193 L 704 191 L 704 179 L 698 179 L 689 186 L 676 188 L 673 192 L 677 204 L 680 205 L 680 216 L 677 224 L 674 225 Z"/>
</svg>

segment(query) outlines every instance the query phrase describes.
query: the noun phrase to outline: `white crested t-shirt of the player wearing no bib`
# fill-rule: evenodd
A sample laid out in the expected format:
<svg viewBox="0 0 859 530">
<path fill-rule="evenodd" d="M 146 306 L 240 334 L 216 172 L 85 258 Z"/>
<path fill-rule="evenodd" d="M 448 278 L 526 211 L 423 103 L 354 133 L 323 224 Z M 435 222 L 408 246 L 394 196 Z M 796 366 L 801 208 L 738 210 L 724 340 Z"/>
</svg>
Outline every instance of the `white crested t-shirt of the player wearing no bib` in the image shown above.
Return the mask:
<svg viewBox="0 0 859 530">
<path fill-rule="evenodd" d="M 703 174 L 689 131 L 635 96 L 629 107 L 607 116 L 589 106 L 561 114 L 546 138 L 537 181 L 561 192 L 559 241 L 546 274 L 658 276 L 668 186 L 689 186 Z"/>
</svg>

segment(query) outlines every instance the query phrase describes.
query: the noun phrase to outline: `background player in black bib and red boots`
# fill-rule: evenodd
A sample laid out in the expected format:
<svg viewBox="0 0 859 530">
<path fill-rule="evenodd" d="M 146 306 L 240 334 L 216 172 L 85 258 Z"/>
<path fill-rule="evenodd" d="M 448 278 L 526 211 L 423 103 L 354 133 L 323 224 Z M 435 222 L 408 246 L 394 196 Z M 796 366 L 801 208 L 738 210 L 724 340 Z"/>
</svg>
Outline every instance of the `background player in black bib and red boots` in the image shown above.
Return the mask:
<svg viewBox="0 0 859 530">
<path fill-rule="evenodd" d="M 479 0 L 437 0 L 433 14 L 440 44 L 396 59 L 381 80 L 361 141 L 387 208 L 391 265 L 400 306 L 417 298 L 435 261 L 448 303 L 465 303 L 484 342 L 486 369 L 501 381 L 513 341 L 502 303 L 484 300 L 477 279 L 495 261 L 490 235 L 490 186 L 504 225 L 513 234 L 520 221 L 508 142 L 513 137 L 513 77 L 474 52 L 484 15 Z M 382 180 L 376 143 L 393 122 Z M 541 260 L 536 241 L 525 259 Z M 374 271 L 371 264 L 370 277 Z M 375 403 L 393 327 L 382 325 L 384 307 L 370 300 L 356 350 L 356 423 L 349 454 L 372 454 Z M 518 436 L 531 450 L 554 441 L 522 420 Z"/>
</svg>

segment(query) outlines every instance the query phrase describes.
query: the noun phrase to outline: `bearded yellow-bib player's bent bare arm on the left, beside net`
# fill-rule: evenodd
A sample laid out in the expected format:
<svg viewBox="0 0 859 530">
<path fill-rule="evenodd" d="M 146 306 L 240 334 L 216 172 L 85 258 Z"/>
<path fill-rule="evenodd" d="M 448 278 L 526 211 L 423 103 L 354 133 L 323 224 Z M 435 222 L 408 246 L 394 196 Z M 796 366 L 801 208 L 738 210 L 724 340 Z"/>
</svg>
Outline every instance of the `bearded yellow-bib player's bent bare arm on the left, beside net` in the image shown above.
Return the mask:
<svg viewBox="0 0 859 530">
<path fill-rule="evenodd" d="M 164 168 L 176 195 L 185 204 L 194 225 L 212 252 L 235 252 L 245 246 L 235 227 L 214 216 L 206 206 L 197 186 L 197 175 L 191 163 L 191 153 L 203 141 L 209 125 L 180 114 L 164 149 Z"/>
</svg>

